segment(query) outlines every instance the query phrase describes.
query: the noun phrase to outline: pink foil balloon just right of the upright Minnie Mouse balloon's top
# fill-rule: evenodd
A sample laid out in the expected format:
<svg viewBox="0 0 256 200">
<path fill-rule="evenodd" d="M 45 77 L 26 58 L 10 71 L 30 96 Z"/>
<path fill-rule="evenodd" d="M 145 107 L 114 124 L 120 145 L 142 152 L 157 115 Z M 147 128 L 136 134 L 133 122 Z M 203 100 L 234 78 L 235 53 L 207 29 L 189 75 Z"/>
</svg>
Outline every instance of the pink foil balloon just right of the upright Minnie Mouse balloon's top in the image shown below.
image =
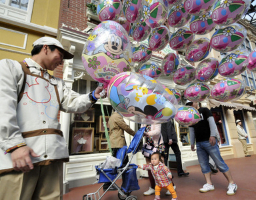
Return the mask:
<svg viewBox="0 0 256 200">
<path fill-rule="evenodd" d="M 151 27 L 149 27 L 143 20 L 138 20 L 133 23 L 131 27 L 131 36 L 135 41 L 144 41 L 149 37 L 151 33 Z"/>
</svg>

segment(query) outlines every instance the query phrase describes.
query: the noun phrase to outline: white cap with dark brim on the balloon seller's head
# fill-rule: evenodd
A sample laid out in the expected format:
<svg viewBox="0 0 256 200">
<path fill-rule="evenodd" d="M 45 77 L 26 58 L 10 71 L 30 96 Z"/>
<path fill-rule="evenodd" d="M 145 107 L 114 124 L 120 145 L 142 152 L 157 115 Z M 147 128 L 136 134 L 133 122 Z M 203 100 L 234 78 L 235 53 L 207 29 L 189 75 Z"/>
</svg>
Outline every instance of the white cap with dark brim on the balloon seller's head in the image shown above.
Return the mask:
<svg viewBox="0 0 256 200">
<path fill-rule="evenodd" d="M 56 47 L 59 47 L 59 48 L 64 50 L 64 57 L 63 57 L 63 59 L 72 59 L 74 57 L 73 54 L 71 54 L 68 51 L 66 51 L 63 48 L 63 45 L 61 45 L 61 43 L 57 39 L 55 39 L 53 37 L 41 37 L 41 38 L 37 39 L 36 41 L 34 41 L 33 47 L 35 47 L 37 45 L 55 45 Z"/>
</svg>

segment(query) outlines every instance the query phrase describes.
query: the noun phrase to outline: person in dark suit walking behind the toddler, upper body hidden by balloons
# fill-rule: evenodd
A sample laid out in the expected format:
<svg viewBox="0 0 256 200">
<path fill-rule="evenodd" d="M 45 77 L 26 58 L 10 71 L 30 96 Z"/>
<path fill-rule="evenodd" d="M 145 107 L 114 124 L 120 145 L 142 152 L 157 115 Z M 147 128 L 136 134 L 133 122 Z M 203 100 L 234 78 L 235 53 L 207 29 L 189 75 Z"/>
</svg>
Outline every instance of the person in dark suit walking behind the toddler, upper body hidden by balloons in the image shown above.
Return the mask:
<svg viewBox="0 0 256 200">
<path fill-rule="evenodd" d="M 169 148 L 171 147 L 171 149 L 173 149 L 173 152 L 175 153 L 177 161 L 178 177 L 187 177 L 189 175 L 189 172 L 185 173 L 182 169 L 181 151 L 179 150 L 179 145 L 177 144 L 177 133 L 175 132 L 172 121 L 161 124 L 161 134 L 163 135 L 163 142 L 165 144 L 165 165 L 168 166 L 167 163 L 169 157 Z"/>
</svg>

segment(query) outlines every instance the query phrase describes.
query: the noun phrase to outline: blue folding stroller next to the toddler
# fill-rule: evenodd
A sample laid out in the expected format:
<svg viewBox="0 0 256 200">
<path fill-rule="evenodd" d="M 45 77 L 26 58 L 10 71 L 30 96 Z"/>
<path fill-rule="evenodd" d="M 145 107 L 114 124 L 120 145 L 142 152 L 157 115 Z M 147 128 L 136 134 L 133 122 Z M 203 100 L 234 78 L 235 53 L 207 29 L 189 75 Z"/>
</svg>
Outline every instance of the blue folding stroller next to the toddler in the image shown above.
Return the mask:
<svg viewBox="0 0 256 200">
<path fill-rule="evenodd" d="M 123 148 L 119 149 L 119 151 L 117 152 L 117 159 L 121 160 L 121 165 L 119 167 L 115 167 L 115 169 L 103 169 L 98 165 L 95 166 L 97 173 L 99 173 L 98 183 L 111 182 L 111 185 L 109 185 L 109 187 L 103 193 L 103 195 L 100 195 L 99 191 L 104 184 L 101 185 L 101 187 L 99 187 L 99 189 L 95 193 L 89 193 L 87 195 L 83 195 L 83 200 L 97 200 L 97 198 L 101 199 L 105 195 L 105 193 L 109 191 L 109 188 L 112 186 L 118 190 L 119 199 L 137 200 L 137 197 L 130 195 L 131 191 L 135 191 L 139 189 L 139 183 L 136 175 L 137 165 L 131 164 L 131 160 L 133 159 L 133 156 L 135 155 L 135 153 L 139 151 L 139 143 L 143 137 L 145 128 L 146 127 L 143 127 L 137 131 L 128 149 L 127 149 L 127 146 L 124 146 Z M 131 158 L 129 159 L 127 165 L 125 165 L 125 167 L 122 167 L 123 161 L 125 160 L 125 157 L 128 156 L 128 153 L 132 153 Z M 119 179 L 121 175 L 122 175 L 123 183 L 120 188 L 115 184 L 115 181 L 117 181 L 117 179 Z"/>
</svg>

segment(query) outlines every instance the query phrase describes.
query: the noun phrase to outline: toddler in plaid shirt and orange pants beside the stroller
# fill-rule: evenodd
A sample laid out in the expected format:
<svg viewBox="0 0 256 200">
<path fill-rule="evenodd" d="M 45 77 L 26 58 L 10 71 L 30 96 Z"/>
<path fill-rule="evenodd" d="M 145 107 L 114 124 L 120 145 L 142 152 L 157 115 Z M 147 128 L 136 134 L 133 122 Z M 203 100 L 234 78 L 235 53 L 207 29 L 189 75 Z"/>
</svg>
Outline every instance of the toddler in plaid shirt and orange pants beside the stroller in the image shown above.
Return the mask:
<svg viewBox="0 0 256 200">
<path fill-rule="evenodd" d="M 160 161 L 161 154 L 154 152 L 151 155 L 151 163 L 149 165 L 138 165 L 140 169 L 151 171 L 155 179 L 155 199 L 160 200 L 160 191 L 166 188 L 172 195 L 172 200 L 177 200 L 177 194 L 173 189 L 171 171 Z"/>
</svg>

